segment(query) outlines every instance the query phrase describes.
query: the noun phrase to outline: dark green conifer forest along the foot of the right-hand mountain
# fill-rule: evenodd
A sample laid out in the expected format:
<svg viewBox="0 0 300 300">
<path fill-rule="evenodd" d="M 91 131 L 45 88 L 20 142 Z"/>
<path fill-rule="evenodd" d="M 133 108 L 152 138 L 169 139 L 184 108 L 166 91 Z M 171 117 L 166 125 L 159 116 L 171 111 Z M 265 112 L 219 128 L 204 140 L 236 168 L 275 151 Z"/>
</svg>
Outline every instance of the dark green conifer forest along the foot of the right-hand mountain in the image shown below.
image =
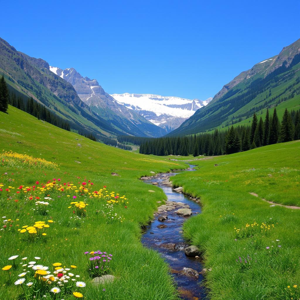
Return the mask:
<svg viewBox="0 0 300 300">
<path fill-rule="evenodd" d="M 119 137 L 118 137 L 119 138 Z M 300 139 L 300 110 L 285 109 L 279 122 L 276 108 L 265 121 L 253 115 L 251 126 L 231 126 L 228 130 L 181 137 L 137 138 L 120 137 L 123 142 L 139 143 L 140 153 L 153 155 L 223 155 L 247 151 L 270 144 Z"/>
</svg>

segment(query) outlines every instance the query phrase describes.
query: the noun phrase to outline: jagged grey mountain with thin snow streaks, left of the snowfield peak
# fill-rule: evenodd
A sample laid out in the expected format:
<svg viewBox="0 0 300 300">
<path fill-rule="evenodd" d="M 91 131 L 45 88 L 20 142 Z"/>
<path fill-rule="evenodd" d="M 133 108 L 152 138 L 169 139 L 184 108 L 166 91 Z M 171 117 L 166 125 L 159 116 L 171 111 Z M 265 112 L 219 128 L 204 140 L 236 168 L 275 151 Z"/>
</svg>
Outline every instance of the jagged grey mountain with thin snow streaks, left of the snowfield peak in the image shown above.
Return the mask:
<svg viewBox="0 0 300 300">
<path fill-rule="evenodd" d="M 163 128 L 116 101 L 104 91 L 96 79 L 83 77 L 74 68 L 62 70 L 49 66 L 49 70 L 72 84 L 79 98 L 116 129 L 136 136 L 160 137 L 167 134 Z"/>
</svg>

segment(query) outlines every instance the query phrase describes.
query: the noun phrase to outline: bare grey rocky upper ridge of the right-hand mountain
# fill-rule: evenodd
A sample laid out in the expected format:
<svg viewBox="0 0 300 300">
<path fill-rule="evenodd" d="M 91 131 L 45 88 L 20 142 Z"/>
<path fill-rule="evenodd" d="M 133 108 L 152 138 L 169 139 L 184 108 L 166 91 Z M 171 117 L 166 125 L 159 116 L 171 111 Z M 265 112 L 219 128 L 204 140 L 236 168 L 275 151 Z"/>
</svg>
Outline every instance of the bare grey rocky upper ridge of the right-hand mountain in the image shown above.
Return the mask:
<svg viewBox="0 0 300 300">
<path fill-rule="evenodd" d="M 240 83 L 245 79 L 249 79 L 252 76 L 259 74 L 266 76 L 269 73 L 276 70 L 283 64 L 283 61 L 286 61 L 286 65 L 289 66 L 292 59 L 296 54 L 300 52 L 300 39 L 292 43 L 287 47 L 283 47 L 281 52 L 278 55 L 275 55 L 271 58 L 267 58 L 259 63 L 255 64 L 251 69 L 243 71 L 238 76 L 234 77 L 229 83 L 225 84 L 223 88 L 214 96 L 211 104 L 213 104 L 217 99 L 221 98 L 227 91 L 233 88 L 235 85 Z"/>
</svg>

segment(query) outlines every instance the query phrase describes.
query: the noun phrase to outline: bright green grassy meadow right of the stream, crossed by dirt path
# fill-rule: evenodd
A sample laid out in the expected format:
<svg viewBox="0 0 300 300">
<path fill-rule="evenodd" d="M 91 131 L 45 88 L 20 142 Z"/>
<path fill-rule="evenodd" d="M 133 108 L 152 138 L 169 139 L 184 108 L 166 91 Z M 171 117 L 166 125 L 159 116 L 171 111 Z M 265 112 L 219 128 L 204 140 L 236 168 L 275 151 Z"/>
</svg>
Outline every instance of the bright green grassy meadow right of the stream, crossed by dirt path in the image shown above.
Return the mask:
<svg viewBox="0 0 300 300">
<path fill-rule="evenodd" d="M 270 207 L 260 199 L 300 206 L 299 154 L 300 141 L 276 144 L 196 161 L 199 170 L 173 178 L 173 184 L 201 198 L 202 214 L 184 224 L 184 235 L 200 247 L 206 267 L 212 268 L 207 275 L 211 299 L 283 300 L 291 298 L 287 286 L 299 287 L 300 210 Z M 265 236 L 235 241 L 234 228 L 253 221 L 275 228 Z M 268 253 L 266 247 L 278 244 L 279 254 Z M 247 255 L 251 266 L 243 268 L 236 259 Z"/>
</svg>

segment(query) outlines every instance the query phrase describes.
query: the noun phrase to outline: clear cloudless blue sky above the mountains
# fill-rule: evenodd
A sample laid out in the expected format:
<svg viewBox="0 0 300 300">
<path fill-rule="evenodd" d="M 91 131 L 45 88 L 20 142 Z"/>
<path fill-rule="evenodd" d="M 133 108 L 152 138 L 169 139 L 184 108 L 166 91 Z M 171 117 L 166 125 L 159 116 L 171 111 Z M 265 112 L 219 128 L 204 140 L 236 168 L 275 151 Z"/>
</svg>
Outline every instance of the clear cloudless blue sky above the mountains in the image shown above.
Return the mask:
<svg viewBox="0 0 300 300">
<path fill-rule="evenodd" d="M 112 93 L 206 99 L 300 38 L 297 1 L 2 1 L 0 36 Z"/>
</svg>

